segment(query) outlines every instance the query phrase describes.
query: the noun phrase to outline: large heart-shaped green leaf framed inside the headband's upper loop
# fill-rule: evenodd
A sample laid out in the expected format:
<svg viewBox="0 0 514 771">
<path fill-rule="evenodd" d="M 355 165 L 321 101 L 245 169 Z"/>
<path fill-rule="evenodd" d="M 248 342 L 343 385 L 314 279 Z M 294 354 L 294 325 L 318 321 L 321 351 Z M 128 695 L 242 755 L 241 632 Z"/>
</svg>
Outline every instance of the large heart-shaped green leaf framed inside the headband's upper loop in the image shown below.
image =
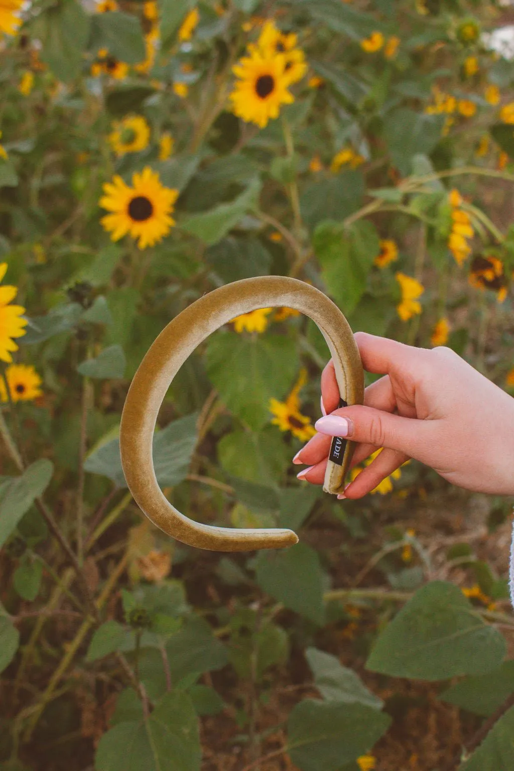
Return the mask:
<svg viewBox="0 0 514 771">
<path fill-rule="evenodd" d="M 227 330 L 207 340 L 206 359 L 207 375 L 220 398 L 255 431 L 270 422 L 270 398 L 286 396 L 300 366 L 292 338 Z"/>
</svg>

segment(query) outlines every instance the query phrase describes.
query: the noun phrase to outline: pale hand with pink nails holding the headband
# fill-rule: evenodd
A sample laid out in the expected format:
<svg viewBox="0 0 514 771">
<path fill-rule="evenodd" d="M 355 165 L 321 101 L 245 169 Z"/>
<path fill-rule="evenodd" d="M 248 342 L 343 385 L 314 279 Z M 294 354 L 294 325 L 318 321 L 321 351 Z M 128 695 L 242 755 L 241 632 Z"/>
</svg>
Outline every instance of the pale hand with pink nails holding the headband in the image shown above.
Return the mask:
<svg viewBox="0 0 514 771">
<path fill-rule="evenodd" d="M 451 348 L 415 348 L 365 332 L 354 338 L 364 369 L 383 377 L 365 389 L 363 406 L 338 408 L 330 359 L 321 373 L 321 399 L 327 415 L 346 419 L 346 436 L 359 443 L 351 467 L 385 449 L 342 497 L 365 496 L 409 458 L 465 490 L 514 495 L 514 399 L 509 394 Z M 332 436 L 344 436 L 344 421 L 342 430 L 323 423 L 330 421 L 318 420 L 318 433 L 294 457 L 294 463 L 309 465 L 298 476 L 312 484 L 323 484 Z"/>
</svg>

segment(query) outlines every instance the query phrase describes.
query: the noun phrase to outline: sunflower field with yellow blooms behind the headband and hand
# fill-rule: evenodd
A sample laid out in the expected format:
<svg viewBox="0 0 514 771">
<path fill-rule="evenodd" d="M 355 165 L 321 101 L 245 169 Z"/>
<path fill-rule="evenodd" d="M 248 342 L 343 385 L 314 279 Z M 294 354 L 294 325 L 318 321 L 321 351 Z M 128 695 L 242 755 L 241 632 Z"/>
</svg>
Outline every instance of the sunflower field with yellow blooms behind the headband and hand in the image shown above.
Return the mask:
<svg viewBox="0 0 514 771">
<path fill-rule="evenodd" d="M 509 19 L 0 0 L 1 771 L 512 771 L 512 501 L 415 461 L 361 500 L 297 479 L 330 358 L 311 319 L 210 335 L 153 443 L 181 512 L 294 547 L 174 542 L 118 438 L 170 319 L 266 274 L 514 396 Z"/>
</svg>

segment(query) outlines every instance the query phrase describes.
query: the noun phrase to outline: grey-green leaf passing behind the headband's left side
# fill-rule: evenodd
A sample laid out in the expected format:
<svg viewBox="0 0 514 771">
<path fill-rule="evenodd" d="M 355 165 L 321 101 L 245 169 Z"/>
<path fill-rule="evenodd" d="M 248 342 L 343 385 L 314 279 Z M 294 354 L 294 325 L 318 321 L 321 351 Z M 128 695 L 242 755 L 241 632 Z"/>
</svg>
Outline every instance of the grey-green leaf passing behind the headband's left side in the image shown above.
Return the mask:
<svg viewBox="0 0 514 771">
<path fill-rule="evenodd" d="M 174 487 L 183 481 L 197 444 L 198 413 L 174 420 L 153 435 L 153 466 L 162 487 Z M 84 470 L 109 477 L 116 487 L 126 487 L 119 455 L 119 439 L 93 447 L 86 456 Z"/>
</svg>

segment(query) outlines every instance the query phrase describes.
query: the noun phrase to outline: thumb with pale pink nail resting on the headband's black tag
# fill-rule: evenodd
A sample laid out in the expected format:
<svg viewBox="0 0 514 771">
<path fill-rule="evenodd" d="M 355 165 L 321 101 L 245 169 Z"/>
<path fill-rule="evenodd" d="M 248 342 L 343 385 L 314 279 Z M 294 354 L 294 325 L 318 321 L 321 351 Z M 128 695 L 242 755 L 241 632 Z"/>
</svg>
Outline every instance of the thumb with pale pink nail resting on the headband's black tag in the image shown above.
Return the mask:
<svg viewBox="0 0 514 771">
<path fill-rule="evenodd" d="M 432 420 L 403 418 L 381 409 L 353 405 L 334 409 L 320 418 L 314 428 L 328 436 L 342 436 L 375 447 L 397 449 L 411 458 L 422 460 L 430 446 Z"/>
</svg>

